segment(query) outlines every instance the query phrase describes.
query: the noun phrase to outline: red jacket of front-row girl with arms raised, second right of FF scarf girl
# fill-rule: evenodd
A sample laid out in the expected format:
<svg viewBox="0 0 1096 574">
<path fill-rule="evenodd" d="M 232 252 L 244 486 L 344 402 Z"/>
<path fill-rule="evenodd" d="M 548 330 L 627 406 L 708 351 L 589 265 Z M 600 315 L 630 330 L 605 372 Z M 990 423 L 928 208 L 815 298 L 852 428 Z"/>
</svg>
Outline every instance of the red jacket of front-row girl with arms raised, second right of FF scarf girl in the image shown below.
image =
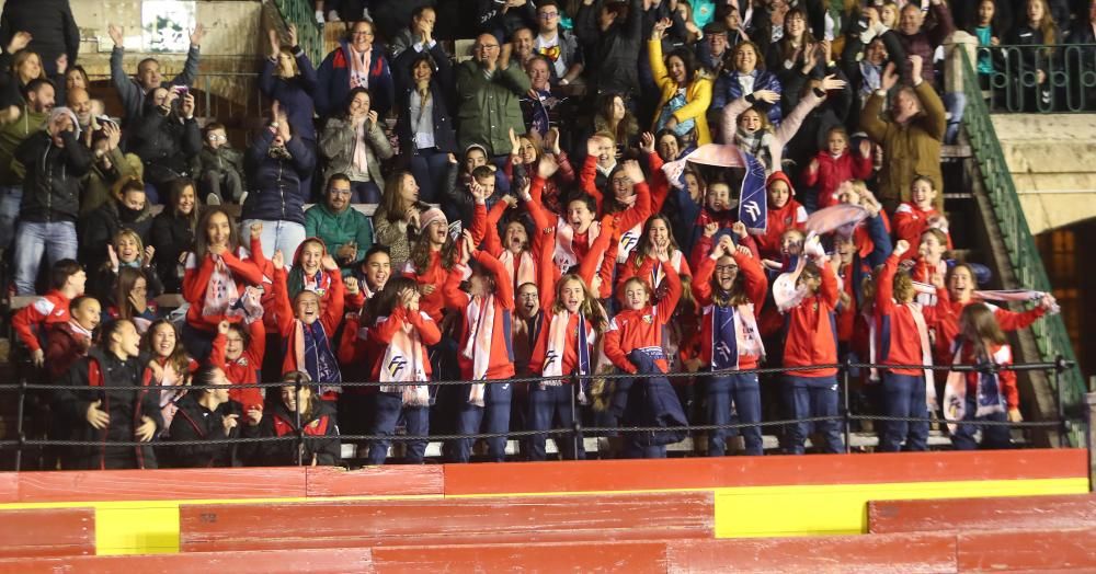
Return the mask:
<svg viewBox="0 0 1096 574">
<path fill-rule="evenodd" d="M 490 271 L 495 277 L 494 291 L 494 321 L 491 329 L 491 357 L 488 361 L 487 378 L 489 380 L 509 379 L 514 376 L 514 354 L 512 352 L 511 335 L 514 313 L 514 289 L 512 282 L 505 280 L 506 268 L 499 263 L 499 260 L 491 256 L 486 251 L 477 251 L 472 259 Z M 458 265 L 449 271 L 449 280 L 445 283 L 445 307 L 460 312 L 460 346 L 457 347 L 457 364 L 460 365 L 460 376 L 466 380 L 472 380 L 473 359 L 466 357 L 464 349 L 468 345 L 468 337 L 472 336 L 476 322 L 479 318 L 468 315 L 468 306 L 472 298 L 460 290 L 460 277 L 463 266 Z M 456 277 L 454 277 L 456 276 Z"/>
</svg>

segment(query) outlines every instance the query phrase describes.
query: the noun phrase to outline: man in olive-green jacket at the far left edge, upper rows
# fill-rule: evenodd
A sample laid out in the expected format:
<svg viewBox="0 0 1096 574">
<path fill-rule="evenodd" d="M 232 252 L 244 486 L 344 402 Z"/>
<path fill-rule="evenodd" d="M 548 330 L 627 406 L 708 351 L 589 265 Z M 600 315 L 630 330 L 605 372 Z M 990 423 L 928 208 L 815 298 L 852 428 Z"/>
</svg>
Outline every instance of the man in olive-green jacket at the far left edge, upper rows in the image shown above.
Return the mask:
<svg viewBox="0 0 1096 574">
<path fill-rule="evenodd" d="M 54 108 L 54 84 L 31 80 L 26 84 L 26 104 L 13 107 L 11 120 L 0 127 L 0 250 L 11 246 L 15 237 L 15 217 L 23 199 L 23 164 L 13 161 L 15 148 L 42 128 L 46 114 Z"/>
</svg>

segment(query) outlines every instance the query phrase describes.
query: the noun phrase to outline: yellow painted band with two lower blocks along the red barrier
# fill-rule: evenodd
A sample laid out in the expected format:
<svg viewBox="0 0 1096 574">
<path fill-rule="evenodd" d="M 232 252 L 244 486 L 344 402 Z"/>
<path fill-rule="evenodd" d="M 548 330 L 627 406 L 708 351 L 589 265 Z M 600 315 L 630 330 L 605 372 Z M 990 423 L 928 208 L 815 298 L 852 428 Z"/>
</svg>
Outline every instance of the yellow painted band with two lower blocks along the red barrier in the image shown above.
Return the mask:
<svg viewBox="0 0 1096 574">
<path fill-rule="evenodd" d="M 867 531 L 867 502 L 880 500 L 951 498 L 970 496 L 1026 496 L 1088 492 L 1085 478 L 840 484 L 809 486 L 741 486 L 728 489 L 674 489 L 647 491 L 585 491 L 574 493 L 475 494 L 452 498 L 499 496 L 600 495 L 647 492 L 715 493 L 717 538 L 811 536 Z M 317 501 L 431 500 L 439 495 L 333 496 L 237 498 L 201 501 L 128 501 L 91 503 L 3 504 L 13 508 L 95 508 L 99 554 L 146 554 L 179 551 L 181 504 L 253 504 Z"/>
</svg>

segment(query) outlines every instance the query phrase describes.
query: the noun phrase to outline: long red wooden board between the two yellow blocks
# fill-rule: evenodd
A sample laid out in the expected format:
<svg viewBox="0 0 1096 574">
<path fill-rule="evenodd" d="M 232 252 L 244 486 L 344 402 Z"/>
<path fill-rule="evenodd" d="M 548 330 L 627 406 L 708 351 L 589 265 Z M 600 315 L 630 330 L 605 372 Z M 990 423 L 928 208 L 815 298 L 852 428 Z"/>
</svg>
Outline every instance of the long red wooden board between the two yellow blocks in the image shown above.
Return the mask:
<svg viewBox="0 0 1096 574">
<path fill-rule="evenodd" d="M 711 538 L 710 492 L 182 505 L 180 549 L 213 552 Z"/>
</svg>

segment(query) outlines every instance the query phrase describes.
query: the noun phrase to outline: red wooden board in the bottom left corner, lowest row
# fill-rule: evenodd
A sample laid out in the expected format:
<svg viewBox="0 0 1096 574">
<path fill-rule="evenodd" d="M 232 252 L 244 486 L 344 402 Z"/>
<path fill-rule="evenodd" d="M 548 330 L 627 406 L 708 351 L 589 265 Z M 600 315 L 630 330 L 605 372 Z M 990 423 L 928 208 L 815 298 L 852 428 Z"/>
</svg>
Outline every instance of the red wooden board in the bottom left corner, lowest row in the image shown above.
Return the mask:
<svg viewBox="0 0 1096 574">
<path fill-rule="evenodd" d="M 0 574 L 55 574 L 94 572 L 133 574 L 134 572 L 262 572 L 264 574 L 318 574 L 373 572 L 367 548 L 322 550 L 267 550 L 206 554 L 129 554 L 118 556 L 69 556 L 34 561 L 0 560 Z"/>
</svg>

